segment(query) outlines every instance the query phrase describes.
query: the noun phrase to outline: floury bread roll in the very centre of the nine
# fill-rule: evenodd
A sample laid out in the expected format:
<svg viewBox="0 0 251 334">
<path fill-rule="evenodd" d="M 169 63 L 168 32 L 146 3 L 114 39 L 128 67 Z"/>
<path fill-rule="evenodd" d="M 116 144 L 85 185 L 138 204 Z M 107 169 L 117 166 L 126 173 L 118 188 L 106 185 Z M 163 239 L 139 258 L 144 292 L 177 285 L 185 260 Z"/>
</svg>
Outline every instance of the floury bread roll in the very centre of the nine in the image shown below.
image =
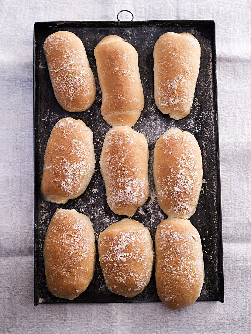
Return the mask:
<svg viewBox="0 0 251 334">
<path fill-rule="evenodd" d="M 100 170 L 110 209 L 116 214 L 133 215 L 149 196 L 145 137 L 126 126 L 113 127 L 105 136 Z"/>
</svg>

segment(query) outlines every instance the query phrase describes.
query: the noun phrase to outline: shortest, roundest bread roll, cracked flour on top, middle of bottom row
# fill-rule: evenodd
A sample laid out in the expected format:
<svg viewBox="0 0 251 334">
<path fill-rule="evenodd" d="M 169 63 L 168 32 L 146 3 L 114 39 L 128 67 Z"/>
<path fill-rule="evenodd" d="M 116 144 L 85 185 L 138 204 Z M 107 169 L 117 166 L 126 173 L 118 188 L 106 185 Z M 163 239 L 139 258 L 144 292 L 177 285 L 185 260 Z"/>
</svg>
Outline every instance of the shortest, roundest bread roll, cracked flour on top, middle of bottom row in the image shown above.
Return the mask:
<svg viewBox="0 0 251 334">
<path fill-rule="evenodd" d="M 108 289 L 124 297 L 141 293 L 150 281 L 154 250 L 149 230 L 136 220 L 108 226 L 98 239 L 99 261 Z"/>
</svg>

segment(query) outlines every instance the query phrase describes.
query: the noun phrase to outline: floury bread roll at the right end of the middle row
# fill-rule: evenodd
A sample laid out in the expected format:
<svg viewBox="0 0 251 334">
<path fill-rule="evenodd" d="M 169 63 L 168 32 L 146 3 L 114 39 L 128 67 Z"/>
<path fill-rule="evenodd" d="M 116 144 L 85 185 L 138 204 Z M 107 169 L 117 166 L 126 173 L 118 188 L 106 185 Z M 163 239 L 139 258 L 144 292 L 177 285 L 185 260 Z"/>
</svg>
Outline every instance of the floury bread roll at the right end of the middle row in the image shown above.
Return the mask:
<svg viewBox="0 0 251 334">
<path fill-rule="evenodd" d="M 202 158 L 195 137 L 170 129 L 156 142 L 153 178 L 161 209 L 169 216 L 190 218 L 202 186 Z"/>
</svg>

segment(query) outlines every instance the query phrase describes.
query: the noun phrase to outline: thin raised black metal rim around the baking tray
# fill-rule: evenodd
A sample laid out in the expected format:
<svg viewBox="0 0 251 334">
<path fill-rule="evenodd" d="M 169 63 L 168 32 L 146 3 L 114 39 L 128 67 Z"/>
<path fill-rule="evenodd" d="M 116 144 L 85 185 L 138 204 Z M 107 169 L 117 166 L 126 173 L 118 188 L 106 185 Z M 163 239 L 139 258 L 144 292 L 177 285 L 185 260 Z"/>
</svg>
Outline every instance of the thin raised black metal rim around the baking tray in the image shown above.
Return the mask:
<svg viewBox="0 0 251 334">
<path fill-rule="evenodd" d="M 177 24 L 177 25 L 209 25 L 212 28 L 212 72 L 213 72 L 213 89 L 214 89 L 214 108 L 215 108 L 215 122 L 216 122 L 216 160 L 217 160 L 217 195 L 219 198 L 218 201 L 218 208 L 217 213 L 219 215 L 219 250 L 218 250 L 218 270 L 219 270 L 219 299 L 218 301 L 221 303 L 224 303 L 224 271 L 223 271 L 223 239 L 222 239 L 222 207 L 221 207 L 221 175 L 220 175 L 220 147 L 219 147 L 219 120 L 218 120 L 218 93 L 217 93 L 217 57 L 216 57 L 216 26 L 214 20 L 140 20 L 140 21 L 35 21 L 34 27 L 33 27 L 33 212 L 34 212 L 34 231 L 33 231 L 33 256 L 34 256 L 34 306 L 37 306 L 39 304 L 89 304 L 89 303 L 125 303 L 126 301 L 120 302 L 120 301 L 107 301 L 107 302 L 93 302 L 93 301 L 85 301 L 85 302 L 74 302 L 74 301 L 68 301 L 68 302 L 44 302 L 39 303 L 37 291 L 36 291 L 36 230 L 37 230 L 37 212 L 36 212 L 36 122 L 35 122 L 35 91 L 36 91 L 36 81 L 35 81 L 35 56 L 36 56 L 36 29 L 38 29 L 39 24 L 50 24 L 50 25 L 63 25 L 63 24 L 85 24 L 85 25 L 91 25 L 91 24 L 116 24 L 118 26 L 127 24 L 128 26 L 137 26 L 142 24 Z M 151 303 L 151 301 L 133 301 L 132 303 Z M 161 302 L 161 301 L 158 301 Z"/>
</svg>

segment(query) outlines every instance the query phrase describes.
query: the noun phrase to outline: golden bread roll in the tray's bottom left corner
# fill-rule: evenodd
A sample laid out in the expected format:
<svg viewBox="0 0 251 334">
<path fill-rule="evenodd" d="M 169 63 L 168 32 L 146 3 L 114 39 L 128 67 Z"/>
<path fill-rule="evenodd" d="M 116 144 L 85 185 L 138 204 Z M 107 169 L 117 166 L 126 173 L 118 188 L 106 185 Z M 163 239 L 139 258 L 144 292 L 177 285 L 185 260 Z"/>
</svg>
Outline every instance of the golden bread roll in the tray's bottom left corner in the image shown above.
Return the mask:
<svg viewBox="0 0 251 334">
<path fill-rule="evenodd" d="M 49 291 L 73 300 L 86 290 L 95 270 L 95 237 L 90 219 L 76 210 L 56 209 L 43 247 Z"/>
</svg>

